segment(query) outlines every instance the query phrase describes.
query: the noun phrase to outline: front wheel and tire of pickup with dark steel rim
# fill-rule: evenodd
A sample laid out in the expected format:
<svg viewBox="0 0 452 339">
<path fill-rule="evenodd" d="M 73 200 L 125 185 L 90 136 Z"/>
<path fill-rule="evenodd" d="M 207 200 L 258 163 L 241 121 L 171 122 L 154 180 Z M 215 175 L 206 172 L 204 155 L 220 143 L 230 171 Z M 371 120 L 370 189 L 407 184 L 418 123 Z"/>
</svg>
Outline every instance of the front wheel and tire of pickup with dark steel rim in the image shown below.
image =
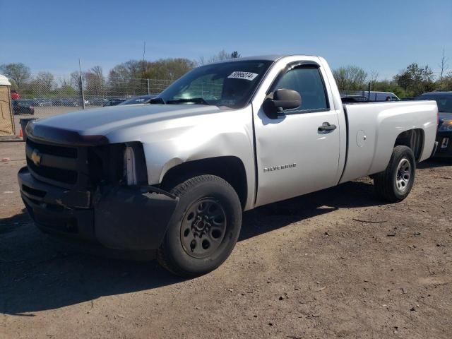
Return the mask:
<svg viewBox="0 0 452 339">
<path fill-rule="evenodd" d="M 242 227 L 242 206 L 232 186 L 214 175 L 192 177 L 171 193 L 179 203 L 157 250 L 170 272 L 194 277 L 218 268 L 234 249 Z"/>
</svg>

